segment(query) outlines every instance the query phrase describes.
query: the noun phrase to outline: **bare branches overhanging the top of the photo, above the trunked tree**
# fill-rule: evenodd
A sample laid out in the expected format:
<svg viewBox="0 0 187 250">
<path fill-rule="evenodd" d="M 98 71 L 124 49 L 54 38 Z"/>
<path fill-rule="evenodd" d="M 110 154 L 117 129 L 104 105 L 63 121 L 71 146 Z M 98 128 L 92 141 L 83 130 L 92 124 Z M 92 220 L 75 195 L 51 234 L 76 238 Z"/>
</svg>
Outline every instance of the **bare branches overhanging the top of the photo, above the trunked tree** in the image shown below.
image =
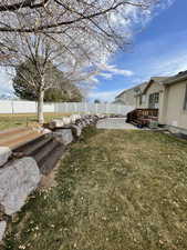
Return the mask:
<svg viewBox="0 0 187 250">
<path fill-rule="evenodd" d="M 74 39 L 75 32 L 89 34 L 107 49 L 110 43 L 123 47 L 128 42 L 124 26 L 132 19 L 129 9 L 144 10 L 159 0 L 2 0 L 0 33 L 22 32 L 63 34 Z M 3 36 L 3 34 L 2 34 Z M 79 36 L 80 37 L 80 36 Z M 11 49 L 1 41 L 2 49 Z"/>
</svg>

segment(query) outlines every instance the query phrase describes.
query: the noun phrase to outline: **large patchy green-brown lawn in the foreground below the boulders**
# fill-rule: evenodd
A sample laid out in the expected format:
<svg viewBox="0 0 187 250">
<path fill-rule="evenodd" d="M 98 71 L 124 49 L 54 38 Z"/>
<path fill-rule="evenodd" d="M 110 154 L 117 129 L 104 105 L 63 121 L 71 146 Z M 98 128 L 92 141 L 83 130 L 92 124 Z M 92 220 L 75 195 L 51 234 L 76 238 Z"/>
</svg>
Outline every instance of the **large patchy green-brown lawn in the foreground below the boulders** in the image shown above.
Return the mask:
<svg viewBox="0 0 187 250">
<path fill-rule="evenodd" d="M 187 143 L 150 131 L 86 130 L 58 186 L 35 192 L 3 250 L 186 250 Z"/>
</svg>

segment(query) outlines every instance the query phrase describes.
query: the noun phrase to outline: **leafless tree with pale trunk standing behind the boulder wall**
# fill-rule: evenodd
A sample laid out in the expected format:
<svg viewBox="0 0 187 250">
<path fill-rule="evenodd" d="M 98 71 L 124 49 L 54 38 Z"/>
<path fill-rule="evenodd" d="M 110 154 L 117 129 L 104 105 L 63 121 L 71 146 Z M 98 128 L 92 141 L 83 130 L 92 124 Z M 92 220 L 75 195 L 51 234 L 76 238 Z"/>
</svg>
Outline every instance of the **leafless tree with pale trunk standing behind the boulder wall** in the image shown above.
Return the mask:
<svg viewBox="0 0 187 250">
<path fill-rule="evenodd" d="M 9 68 L 23 67 L 20 78 L 28 89 L 34 89 L 38 93 L 38 119 L 43 123 L 43 99 L 49 89 L 63 89 L 63 83 L 84 82 L 96 73 L 95 68 L 87 70 L 89 50 L 85 54 L 75 47 L 73 41 L 66 47 L 51 37 L 43 34 L 11 33 L 3 37 L 3 42 L 11 48 L 11 57 L 1 61 L 1 66 Z M 93 57 L 93 54 L 92 54 Z M 55 70 L 54 70 L 55 68 Z M 59 81 L 58 70 L 63 71 L 63 79 Z M 73 91 L 73 90 L 72 90 Z"/>
</svg>

